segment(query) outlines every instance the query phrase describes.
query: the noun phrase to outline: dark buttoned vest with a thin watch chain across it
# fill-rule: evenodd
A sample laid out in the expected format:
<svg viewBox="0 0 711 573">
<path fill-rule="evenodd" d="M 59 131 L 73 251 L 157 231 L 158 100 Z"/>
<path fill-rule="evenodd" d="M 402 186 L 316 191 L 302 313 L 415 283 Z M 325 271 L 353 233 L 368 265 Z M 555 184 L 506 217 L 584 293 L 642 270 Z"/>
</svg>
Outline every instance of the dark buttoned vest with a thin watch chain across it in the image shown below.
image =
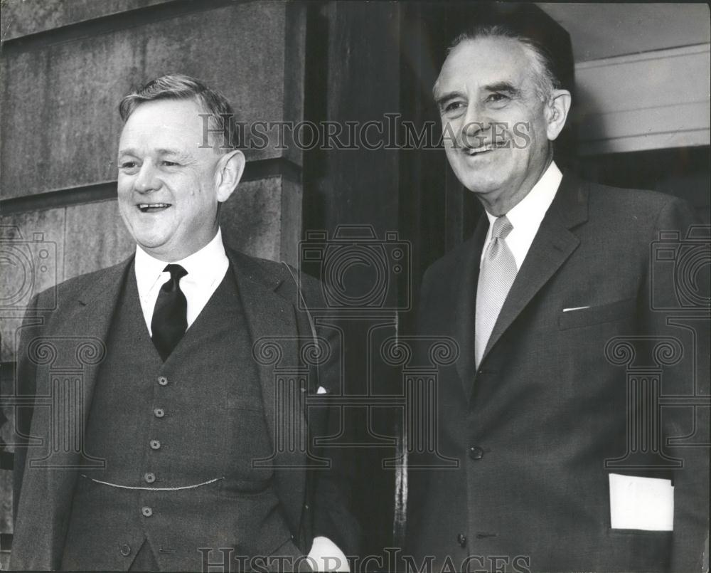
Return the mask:
<svg viewBox="0 0 711 573">
<path fill-rule="evenodd" d="M 165 363 L 129 269 L 85 436 L 106 464 L 79 472 L 63 569 L 125 570 L 147 541 L 162 570 L 199 571 L 290 540 L 273 468 L 252 467 L 272 445 L 232 268 Z"/>
</svg>

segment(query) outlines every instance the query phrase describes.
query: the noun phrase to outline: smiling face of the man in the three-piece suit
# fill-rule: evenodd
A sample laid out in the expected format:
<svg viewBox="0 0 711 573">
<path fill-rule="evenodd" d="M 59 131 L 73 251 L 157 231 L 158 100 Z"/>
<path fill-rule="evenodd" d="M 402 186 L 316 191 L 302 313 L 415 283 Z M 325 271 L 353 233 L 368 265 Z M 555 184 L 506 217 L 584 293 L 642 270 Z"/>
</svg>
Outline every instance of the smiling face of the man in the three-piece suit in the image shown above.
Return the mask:
<svg viewBox="0 0 711 573">
<path fill-rule="evenodd" d="M 121 216 L 134 240 L 162 261 L 195 253 L 218 229 L 220 156 L 200 147 L 201 113 L 193 100 L 144 102 L 121 133 Z"/>
</svg>

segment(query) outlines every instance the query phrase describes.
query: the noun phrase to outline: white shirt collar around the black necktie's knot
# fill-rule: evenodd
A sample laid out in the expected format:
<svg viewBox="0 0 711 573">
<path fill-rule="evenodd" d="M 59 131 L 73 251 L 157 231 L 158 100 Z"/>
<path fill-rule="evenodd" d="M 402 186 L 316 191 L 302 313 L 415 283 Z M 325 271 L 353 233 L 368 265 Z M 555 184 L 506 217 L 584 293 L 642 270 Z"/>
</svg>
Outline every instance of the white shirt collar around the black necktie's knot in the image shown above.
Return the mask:
<svg viewBox="0 0 711 573">
<path fill-rule="evenodd" d="M 180 261 L 173 261 L 172 264 L 180 265 L 188 271 L 188 275 L 183 280 L 189 280 L 191 283 L 201 285 L 210 285 L 218 273 L 224 275 L 224 261 L 227 261 L 227 253 L 225 253 L 225 246 L 222 241 L 222 231 L 218 227 L 218 232 L 212 241 L 199 251 L 186 256 Z M 163 269 L 166 268 L 167 264 L 165 261 L 159 261 L 159 259 L 146 253 L 141 246 L 136 246 L 135 265 L 139 294 L 144 295 L 144 293 L 148 293 L 151 290 L 156 281 L 161 278 L 164 272 Z"/>
</svg>

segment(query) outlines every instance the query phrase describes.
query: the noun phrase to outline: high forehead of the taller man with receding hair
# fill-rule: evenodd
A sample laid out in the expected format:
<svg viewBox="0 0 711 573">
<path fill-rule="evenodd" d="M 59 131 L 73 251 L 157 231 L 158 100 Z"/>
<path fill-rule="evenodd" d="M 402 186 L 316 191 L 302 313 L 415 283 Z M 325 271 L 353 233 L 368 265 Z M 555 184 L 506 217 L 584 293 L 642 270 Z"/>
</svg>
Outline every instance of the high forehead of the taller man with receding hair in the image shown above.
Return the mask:
<svg viewBox="0 0 711 573">
<path fill-rule="evenodd" d="M 434 84 L 434 95 L 496 83 L 523 86 L 533 73 L 527 48 L 501 36 L 461 41 L 447 56 Z"/>
</svg>

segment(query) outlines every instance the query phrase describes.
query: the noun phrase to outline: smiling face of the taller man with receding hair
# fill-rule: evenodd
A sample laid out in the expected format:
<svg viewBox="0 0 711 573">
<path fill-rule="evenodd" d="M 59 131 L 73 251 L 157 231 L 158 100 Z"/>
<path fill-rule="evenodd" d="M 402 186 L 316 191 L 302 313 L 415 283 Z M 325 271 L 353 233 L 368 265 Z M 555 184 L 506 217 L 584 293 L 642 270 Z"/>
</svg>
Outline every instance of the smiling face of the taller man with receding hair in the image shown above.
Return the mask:
<svg viewBox="0 0 711 573">
<path fill-rule="evenodd" d="M 485 204 L 518 203 L 549 160 L 547 107 L 530 56 L 510 38 L 465 40 L 442 66 L 434 90 L 447 159 Z M 513 204 L 511 204 L 513 203 Z"/>
</svg>

